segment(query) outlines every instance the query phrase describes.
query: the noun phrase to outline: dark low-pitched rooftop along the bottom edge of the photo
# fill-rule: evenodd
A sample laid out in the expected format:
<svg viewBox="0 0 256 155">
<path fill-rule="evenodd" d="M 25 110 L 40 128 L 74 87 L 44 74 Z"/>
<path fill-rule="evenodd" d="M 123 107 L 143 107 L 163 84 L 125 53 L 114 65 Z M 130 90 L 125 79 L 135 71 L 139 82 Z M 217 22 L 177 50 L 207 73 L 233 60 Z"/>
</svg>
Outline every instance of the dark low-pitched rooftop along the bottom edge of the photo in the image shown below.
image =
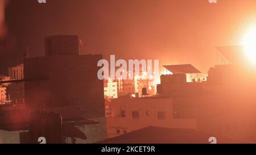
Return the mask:
<svg viewBox="0 0 256 155">
<path fill-rule="evenodd" d="M 146 127 L 113 137 L 99 144 L 210 144 L 209 137 L 216 137 L 218 144 L 249 144 L 251 142 L 207 133 L 193 129 Z"/>
</svg>

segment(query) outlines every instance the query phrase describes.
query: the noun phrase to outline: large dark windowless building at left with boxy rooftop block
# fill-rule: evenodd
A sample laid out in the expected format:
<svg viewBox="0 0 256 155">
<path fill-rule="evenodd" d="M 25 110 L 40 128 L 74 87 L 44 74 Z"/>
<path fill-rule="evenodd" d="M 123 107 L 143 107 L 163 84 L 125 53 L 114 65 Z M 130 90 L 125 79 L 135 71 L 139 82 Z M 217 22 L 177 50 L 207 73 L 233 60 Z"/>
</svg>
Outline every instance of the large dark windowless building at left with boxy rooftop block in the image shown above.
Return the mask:
<svg viewBox="0 0 256 155">
<path fill-rule="evenodd" d="M 47 37 L 46 56 L 24 60 L 24 78 L 31 79 L 25 102 L 30 110 L 58 112 L 63 119 L 96 120 L 86 130 L 88 139 L 78 140 L 94 143 L 105 138 L 104 83 L 97 78 L 102 55 L 79 55 L 78 45 L 78 36 Z"/>
</svg>

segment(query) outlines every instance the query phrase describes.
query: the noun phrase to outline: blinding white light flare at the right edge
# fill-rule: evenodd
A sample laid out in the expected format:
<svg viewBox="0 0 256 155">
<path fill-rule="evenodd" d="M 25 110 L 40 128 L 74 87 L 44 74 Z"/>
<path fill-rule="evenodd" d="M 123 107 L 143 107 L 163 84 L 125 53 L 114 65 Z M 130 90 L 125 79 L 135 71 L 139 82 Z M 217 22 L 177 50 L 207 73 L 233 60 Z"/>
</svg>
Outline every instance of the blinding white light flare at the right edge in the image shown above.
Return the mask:
<svg viewBox="0 0 256 155">
<path fill-rule="evenodd" d="M 250 30 L 245 33 L 242 45 L 245 56 L 249 61 L 256 64 L 256 27 L 250 28 Z"/>
</svg>

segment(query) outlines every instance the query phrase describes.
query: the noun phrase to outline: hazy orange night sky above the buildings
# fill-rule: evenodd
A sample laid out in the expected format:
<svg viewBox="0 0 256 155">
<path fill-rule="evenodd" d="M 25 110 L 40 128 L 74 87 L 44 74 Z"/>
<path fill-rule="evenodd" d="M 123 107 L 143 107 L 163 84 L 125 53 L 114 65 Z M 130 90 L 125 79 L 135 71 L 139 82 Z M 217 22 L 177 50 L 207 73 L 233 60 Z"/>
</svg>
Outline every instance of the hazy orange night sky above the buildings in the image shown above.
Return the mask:
<svg viewBox="0 0 256 155">
<path fill-rule="evenodd" d="M 217 0 L 10 0 L 9 35 L 0 48 L 0 74 L 31 56 L 44 55 L 44 37 L 79 35 L 81 54 L 159 59 L 160 65 L 193 64 L 207 73 L 220 45 L 236 45 L 254 21 L 256 1 Z"/>
</svg>

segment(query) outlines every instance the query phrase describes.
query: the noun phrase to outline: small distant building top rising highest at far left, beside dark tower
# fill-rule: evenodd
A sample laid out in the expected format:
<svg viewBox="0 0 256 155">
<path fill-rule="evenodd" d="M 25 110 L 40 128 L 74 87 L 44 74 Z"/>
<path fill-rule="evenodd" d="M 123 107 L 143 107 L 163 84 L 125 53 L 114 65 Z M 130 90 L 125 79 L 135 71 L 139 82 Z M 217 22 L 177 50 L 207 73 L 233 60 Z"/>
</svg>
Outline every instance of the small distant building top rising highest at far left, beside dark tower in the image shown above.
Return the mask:
<svg viewBox="0 0 256 155">
<path fill-rule="evenodd" d="M 17 66 L 9 68 L 8 69 L 9 77 L 11 77 L 11 79 L 23 79 L 24 78 L 23 68 L 24 68 L 23 64 L 19 64 Z"/>
</svg>

